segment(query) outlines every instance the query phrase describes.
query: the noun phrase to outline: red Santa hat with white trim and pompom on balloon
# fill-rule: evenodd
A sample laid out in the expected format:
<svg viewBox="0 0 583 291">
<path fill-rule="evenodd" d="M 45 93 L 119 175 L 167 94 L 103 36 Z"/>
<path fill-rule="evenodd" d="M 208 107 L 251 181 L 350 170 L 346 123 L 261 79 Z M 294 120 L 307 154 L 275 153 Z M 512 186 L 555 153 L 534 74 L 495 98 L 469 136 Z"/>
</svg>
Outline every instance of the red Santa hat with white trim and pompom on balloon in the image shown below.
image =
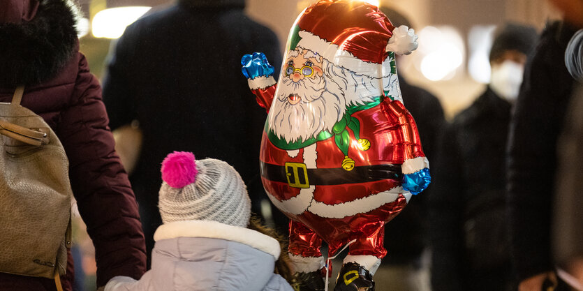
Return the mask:
<svg viewBox="0 0 583 291">
<path fill-rule="evenodd" d="M 321 0 L 309 6 L 297 17 L 288 40 L 289 50 L 302 47 L 370 77 L 391 73 L 390 52 L 410 54 L 417 46 L 413 29 L 395 28 L 376 6 L 350 0 Z"/>
</svg>

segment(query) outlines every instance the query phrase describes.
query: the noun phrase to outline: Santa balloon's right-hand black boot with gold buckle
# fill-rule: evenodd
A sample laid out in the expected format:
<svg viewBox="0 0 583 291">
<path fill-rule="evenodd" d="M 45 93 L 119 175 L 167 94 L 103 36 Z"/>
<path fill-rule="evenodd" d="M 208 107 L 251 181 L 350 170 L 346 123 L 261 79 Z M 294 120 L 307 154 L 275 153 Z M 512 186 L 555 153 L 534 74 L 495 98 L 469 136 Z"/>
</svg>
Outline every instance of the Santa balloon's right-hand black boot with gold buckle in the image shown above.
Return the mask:
<svg viewBox="0 0 583 291">
<path fill-rule="evenodd" d="M 367 269 L 355 262 L 348 262 L 340 269 L 334 291 L 374 291 L 374 281 Z"/>
</svg>

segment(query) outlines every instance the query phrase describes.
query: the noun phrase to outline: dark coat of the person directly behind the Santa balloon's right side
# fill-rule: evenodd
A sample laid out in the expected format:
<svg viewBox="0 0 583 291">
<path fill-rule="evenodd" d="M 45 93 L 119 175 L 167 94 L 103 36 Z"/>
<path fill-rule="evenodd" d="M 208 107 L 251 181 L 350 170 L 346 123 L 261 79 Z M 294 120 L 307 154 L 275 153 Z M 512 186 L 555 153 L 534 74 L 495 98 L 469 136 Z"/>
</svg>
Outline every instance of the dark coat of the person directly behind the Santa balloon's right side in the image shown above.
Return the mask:
<svg viewBox="0 0 583 291">
<path fill-rule="evenodd" d="M 399 85 L 403 103 L 415 119 L 419 130 L 425 156 L 431 165 L 431 174 L 438 168 L 434 165 L 436 145 L 441 126 L 445 124 L 443 108 L 439 100 L 424 89 L 408 84 L 399 76 Z M 427 199 L 432 194 L 433 186 L 416 195 L 397 217 L 385 226 L 385 248 L 388 255 L 383 258 L 385 264 L 415 264 L 428 245 L 427 238 Z"/>
</svg>

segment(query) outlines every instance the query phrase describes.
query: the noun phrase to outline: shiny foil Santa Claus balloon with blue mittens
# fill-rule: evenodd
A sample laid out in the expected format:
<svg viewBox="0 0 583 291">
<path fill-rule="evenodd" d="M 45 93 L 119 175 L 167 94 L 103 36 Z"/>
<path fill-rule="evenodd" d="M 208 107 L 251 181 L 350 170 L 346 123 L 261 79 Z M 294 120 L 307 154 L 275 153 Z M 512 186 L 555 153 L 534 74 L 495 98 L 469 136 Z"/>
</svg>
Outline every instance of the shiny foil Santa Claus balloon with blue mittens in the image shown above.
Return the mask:
<svg viewBox="0 0 583 291">
<path fill-rule="evenodd" d="M 260 172 L 291 221 L 298 290 L 324 289 L 323 241 L 329 256 L 350 244 L 334 290 L 374 290 L 383 226 L 429 184 L 394 63 L 416 47 L 413 29 L 393 27 L 376 6 L 323 0 L 293 24 L 278 82 L 264 54 L 242 59 L 268 112 Z"/>
</svg>

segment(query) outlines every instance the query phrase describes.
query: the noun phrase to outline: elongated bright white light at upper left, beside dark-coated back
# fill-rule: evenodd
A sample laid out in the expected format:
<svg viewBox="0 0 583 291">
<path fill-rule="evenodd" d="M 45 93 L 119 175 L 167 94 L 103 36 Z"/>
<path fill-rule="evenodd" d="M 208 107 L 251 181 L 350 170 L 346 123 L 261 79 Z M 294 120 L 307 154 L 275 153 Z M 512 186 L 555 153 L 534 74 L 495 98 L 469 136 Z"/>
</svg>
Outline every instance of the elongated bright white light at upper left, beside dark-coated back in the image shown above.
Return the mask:
<svg viewBox="0 0 583 291">
<path fill-rule="evenodd" d="M 99 11 L 91 23 L 91 31 L 96 38 L 119 38 L 129 24 L 138 20 L 150 7 L 128 6 Z"/>
</svg>

